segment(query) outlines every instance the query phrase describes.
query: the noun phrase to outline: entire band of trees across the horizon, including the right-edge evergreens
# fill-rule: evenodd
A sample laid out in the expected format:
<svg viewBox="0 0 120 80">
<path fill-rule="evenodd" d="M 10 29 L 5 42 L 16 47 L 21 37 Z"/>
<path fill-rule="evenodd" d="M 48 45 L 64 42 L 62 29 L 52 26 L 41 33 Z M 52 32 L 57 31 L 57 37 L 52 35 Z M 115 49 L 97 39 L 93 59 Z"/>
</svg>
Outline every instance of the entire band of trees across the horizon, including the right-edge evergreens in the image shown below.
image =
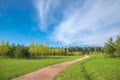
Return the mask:
<svg viewBox="0 0 120 80">
<path fill-rule="evenodd" d="M 9 41 L 0 41 L 0 56 L 11 58 L 35 58 L 46 56 L 75 56 L 91 53 L 103 53 L 107 57 L 120 57 L 120 36 L 113 41 L 110 38 L 103 47 L 50 47 L 48 44 L 30 42 L 29 46 L 10 44 Z"/>
</svg>

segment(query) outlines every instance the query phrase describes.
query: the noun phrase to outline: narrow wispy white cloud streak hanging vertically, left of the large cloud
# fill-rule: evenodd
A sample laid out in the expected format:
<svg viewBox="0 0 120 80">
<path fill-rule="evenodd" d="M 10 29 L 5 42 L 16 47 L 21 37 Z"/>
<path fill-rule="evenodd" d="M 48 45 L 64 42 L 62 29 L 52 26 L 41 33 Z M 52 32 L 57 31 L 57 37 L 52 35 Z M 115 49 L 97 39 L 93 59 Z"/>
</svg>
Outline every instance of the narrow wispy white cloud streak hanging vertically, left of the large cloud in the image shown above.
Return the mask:
<svg viewBox="0 0 120 80">
<path fill-rule="evenodd" d="M 53 15 L 50 13 L 59 6 L 59 0 L 37 0 L 35 6 L 38 11 L 40 30 L 46 30 L 48 27 L 47 19 Z"/>
</svg>

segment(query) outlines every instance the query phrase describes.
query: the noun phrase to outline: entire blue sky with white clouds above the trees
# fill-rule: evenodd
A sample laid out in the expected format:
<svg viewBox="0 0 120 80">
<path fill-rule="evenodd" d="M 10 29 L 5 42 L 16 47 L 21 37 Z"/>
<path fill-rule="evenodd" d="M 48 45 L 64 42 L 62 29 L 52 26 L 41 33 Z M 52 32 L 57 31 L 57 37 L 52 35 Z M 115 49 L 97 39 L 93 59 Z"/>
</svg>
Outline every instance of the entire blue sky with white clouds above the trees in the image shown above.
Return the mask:
<svg viewBox="0 0 120 80">
<path fill-rule="evenodd" d="M 120 0 L 0 0 L 0 40 L 103 46 L 120 35 Z"/>
</svg>

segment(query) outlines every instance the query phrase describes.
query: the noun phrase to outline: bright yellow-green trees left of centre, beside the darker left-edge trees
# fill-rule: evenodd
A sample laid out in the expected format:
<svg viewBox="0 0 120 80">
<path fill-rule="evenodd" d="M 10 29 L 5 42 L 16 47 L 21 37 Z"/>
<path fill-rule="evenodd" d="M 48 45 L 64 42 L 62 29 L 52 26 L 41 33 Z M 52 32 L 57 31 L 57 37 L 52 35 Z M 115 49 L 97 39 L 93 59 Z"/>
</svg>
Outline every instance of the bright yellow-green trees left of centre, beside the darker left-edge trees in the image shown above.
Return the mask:
<svg viewBox="0 0 120 80">
<path fill-rule="evenodd" d="M 35 43 L 33 41 L 30 42 L 29 53 L 32 57 L 44 57 L 50 55 L 66 55 L 67 50 L 66 48 L 55 47 L 51 48 L 48 44 L 44 45 L 41 43 Z"/>
</svg>

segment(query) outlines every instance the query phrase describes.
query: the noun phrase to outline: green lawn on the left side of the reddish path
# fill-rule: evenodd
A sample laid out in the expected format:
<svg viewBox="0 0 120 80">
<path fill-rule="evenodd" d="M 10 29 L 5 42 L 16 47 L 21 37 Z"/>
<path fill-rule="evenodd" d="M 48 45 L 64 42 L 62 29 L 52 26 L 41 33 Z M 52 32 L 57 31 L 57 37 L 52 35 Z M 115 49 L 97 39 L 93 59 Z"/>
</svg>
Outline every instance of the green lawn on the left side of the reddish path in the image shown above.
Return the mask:
<svg viewBox="0 0 120 80">
<path fill-rule="evenodd" d="M 0 58 L 0 80 L 9 80 L 13 77 L 43 68 L 62 61 L 72 60 L 81 56 L 47 57 L 43 59 L 2 59 Z"/>
</svg>

